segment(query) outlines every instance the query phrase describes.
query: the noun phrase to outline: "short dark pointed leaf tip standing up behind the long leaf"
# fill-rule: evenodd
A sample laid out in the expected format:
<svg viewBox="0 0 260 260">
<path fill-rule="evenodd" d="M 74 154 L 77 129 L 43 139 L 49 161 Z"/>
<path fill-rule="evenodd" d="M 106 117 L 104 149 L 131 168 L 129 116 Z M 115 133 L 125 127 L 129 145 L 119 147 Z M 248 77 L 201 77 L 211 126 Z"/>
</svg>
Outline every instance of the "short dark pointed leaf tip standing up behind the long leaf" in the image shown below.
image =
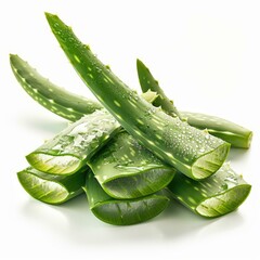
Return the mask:
<svg viewBox="0 0 260 260">
<path fill-rule="evenodd" d="M 158 94 L 158 98 L 155 101 L 155 105 L 161 106 L 161 109 L 172 117 L 182 118 L 181 114 L 174 106 L 173 101 L 167 98 L 164 90 L 159 87 L 158 81 L 154 78 L 150 69 L 139 58 L 136 60 L 136 68 L 139 82 L 142 91 L 147 92 L 148 90 L 151 90 L 156 92 Z"/>
</svg>

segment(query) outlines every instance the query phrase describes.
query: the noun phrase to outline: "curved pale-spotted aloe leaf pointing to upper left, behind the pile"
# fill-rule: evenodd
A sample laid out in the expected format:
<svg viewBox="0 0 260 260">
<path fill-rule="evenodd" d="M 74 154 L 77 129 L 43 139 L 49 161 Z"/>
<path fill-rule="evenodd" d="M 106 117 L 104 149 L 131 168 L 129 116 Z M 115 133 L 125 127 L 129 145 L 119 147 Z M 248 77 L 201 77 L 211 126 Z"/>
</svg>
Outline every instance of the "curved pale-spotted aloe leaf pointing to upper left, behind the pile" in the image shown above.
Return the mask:
<svg viewBox="0 0 260 260">
<path fill-rule="evenodd" d="M 76 121 L 82 115 L 102 108 L 98 102 L 69 93 L 52 83 L 17 55 L 10 55 L 10 64 L 24 90 L 40 105 L 61 117 Z"/>
</svg>

